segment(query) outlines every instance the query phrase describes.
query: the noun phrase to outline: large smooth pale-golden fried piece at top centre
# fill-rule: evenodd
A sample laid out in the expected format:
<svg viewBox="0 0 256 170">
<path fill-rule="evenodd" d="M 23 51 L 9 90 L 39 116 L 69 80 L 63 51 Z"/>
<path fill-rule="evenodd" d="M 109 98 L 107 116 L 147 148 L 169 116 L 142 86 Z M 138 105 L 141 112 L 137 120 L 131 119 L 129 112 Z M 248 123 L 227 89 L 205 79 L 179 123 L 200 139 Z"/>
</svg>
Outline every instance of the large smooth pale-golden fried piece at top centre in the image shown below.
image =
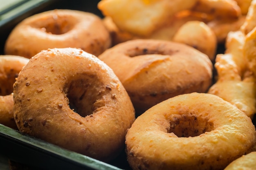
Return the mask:
<svg viewBox="0 0 256 170">
<path fill-rule="evenodd" d="M 98 9 L 122 31 L 148 36 L 168 18 L 191 9 L 197 0 L 101 0 Z"/>
</svg>

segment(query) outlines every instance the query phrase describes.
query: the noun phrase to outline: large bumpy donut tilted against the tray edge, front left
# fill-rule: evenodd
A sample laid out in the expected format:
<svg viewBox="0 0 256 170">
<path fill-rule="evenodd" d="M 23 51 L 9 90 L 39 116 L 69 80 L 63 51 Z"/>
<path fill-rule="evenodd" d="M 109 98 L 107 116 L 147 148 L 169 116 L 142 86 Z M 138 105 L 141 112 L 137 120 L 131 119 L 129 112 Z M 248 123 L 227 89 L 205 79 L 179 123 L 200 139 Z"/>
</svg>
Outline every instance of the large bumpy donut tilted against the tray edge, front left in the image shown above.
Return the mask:
<svg viewBox="0 0 256 170">
<path fill-rule="evenodd" d="M 21 132 L 101 161 L 124 150 L 135 119 L 113 71 L 75 48 L 43 50 L 32 57 L 13 85 L 13 100 Z"/>
</svg>

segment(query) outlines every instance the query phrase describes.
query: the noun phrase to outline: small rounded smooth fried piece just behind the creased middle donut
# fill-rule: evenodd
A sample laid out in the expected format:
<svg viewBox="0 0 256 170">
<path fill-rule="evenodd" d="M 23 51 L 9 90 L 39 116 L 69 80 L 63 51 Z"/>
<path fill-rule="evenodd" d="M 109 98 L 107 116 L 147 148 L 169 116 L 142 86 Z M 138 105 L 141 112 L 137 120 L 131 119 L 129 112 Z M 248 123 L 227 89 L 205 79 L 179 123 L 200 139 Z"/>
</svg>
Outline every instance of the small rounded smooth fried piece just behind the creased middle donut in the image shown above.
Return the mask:
<svg viewBox="0 0 256 170">
<path fill-rule="evenodd" d="M 216 57 L 217 38 L 207 24 L 201 21 L 188 21 L 177 30 L 173 41 L 187 44 L 206 54 L 213 62 Z"/>
</svg>

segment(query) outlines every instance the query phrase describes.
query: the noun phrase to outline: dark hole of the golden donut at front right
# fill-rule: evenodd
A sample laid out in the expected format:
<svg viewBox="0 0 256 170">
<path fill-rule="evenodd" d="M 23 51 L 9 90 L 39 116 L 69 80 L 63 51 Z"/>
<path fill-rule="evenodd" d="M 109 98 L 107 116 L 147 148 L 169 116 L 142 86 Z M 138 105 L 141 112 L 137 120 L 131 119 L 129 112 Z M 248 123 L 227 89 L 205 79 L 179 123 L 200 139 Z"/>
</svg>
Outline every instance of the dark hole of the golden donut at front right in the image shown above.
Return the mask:
<svg viewBox="0 0 256 170">
<path fill-rule="evenodd" d="M 207 118 L 184 114 L 176 115 L 170 119 L 168 133 L 173 132 L 177 137 L 195 137 L 213 129 L 213 123 Z"/>
</svg>

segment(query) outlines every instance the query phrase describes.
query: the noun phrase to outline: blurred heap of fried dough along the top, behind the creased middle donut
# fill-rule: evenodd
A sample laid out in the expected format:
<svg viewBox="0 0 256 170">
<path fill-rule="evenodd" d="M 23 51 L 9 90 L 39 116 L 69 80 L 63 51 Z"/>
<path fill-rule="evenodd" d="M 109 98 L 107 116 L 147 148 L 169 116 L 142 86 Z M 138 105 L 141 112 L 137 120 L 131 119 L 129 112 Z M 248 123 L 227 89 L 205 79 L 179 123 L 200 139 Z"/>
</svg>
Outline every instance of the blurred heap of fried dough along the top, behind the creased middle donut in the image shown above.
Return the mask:
<svg viewBox="0 0 256 170">
<path fill-rule="evenodd" d="M 245 21 L 252 0 L 101 0 L 112 44 L 151 38 L 188 44 L 214 62 L 218 44 Z"/>
</svg>

